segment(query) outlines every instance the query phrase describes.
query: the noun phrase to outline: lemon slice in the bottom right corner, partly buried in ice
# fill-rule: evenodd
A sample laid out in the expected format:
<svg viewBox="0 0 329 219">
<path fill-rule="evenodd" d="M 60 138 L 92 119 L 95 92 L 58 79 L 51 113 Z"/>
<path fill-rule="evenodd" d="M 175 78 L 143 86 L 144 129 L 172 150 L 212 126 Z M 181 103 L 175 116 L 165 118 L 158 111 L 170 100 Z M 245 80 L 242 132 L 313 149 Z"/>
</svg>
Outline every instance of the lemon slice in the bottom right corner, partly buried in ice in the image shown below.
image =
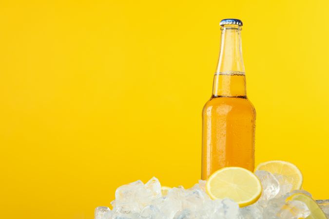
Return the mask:
<svg viewBox="0 0 329 219">
<path fill-rule="evenodd" d="M 327 219 L 325 213 L 321 210 L 319 205 L 310 198 L 310 196 L 303 193 L 296 193 L 287 198 L 286 201 L 302 201 L 310 209 L 310 216 L 306 219 Z"/>
</svg>

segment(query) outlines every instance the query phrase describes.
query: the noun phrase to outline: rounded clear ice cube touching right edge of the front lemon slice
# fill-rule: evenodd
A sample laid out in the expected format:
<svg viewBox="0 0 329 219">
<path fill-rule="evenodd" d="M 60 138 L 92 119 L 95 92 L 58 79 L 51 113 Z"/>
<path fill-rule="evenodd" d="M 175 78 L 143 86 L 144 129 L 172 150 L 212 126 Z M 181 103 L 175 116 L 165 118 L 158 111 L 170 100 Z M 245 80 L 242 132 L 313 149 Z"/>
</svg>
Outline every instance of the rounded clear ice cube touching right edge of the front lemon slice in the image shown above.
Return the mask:
<svg viewBox="0 0 329 219">
<path fill-rule="evenodd" d="M 262 183 L 263 191 L 260 200 L 270 200 L 280 191 L 280 185 L 273 174 L 263 170 L 257 170 L 255 175 Z"/>
</svg>

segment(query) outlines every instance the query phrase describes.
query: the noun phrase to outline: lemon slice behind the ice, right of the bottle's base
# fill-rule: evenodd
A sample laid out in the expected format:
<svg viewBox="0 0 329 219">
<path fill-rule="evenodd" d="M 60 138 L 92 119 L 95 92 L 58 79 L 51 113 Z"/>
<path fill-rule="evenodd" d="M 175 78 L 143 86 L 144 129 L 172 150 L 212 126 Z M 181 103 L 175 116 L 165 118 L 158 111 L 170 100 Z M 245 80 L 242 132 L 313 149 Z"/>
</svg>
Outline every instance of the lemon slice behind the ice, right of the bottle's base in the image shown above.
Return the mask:
<svg viewBox="0 0 329 219">
<path fill-rule="evenodd" d="M 297 166 L 286 161 L 268 161 L 259 164 L 255 170 L 265 170 L 270 173 L 280 174 L 286 177 L 292 184 L 292 190 L 302 187 L 303 175 Z"/>
</svg>

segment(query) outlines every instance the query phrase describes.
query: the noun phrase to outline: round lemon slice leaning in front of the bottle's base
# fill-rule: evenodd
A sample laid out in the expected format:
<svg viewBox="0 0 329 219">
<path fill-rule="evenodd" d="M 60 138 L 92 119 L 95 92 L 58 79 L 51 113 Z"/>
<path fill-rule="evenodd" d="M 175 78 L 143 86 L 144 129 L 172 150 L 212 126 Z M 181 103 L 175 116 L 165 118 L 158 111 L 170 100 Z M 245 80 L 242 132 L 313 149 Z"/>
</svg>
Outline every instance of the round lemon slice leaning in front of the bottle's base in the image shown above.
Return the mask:
<svg viewBox="0 0 329 219">
<path fill-rule="evenodd" d="M 224 167 L 209 177 L 206 192 L 212 199 L 229 198 L 244 207 L 259 199 L 262 186 L 251 171 L 241 167 Z"/>
</svg>

